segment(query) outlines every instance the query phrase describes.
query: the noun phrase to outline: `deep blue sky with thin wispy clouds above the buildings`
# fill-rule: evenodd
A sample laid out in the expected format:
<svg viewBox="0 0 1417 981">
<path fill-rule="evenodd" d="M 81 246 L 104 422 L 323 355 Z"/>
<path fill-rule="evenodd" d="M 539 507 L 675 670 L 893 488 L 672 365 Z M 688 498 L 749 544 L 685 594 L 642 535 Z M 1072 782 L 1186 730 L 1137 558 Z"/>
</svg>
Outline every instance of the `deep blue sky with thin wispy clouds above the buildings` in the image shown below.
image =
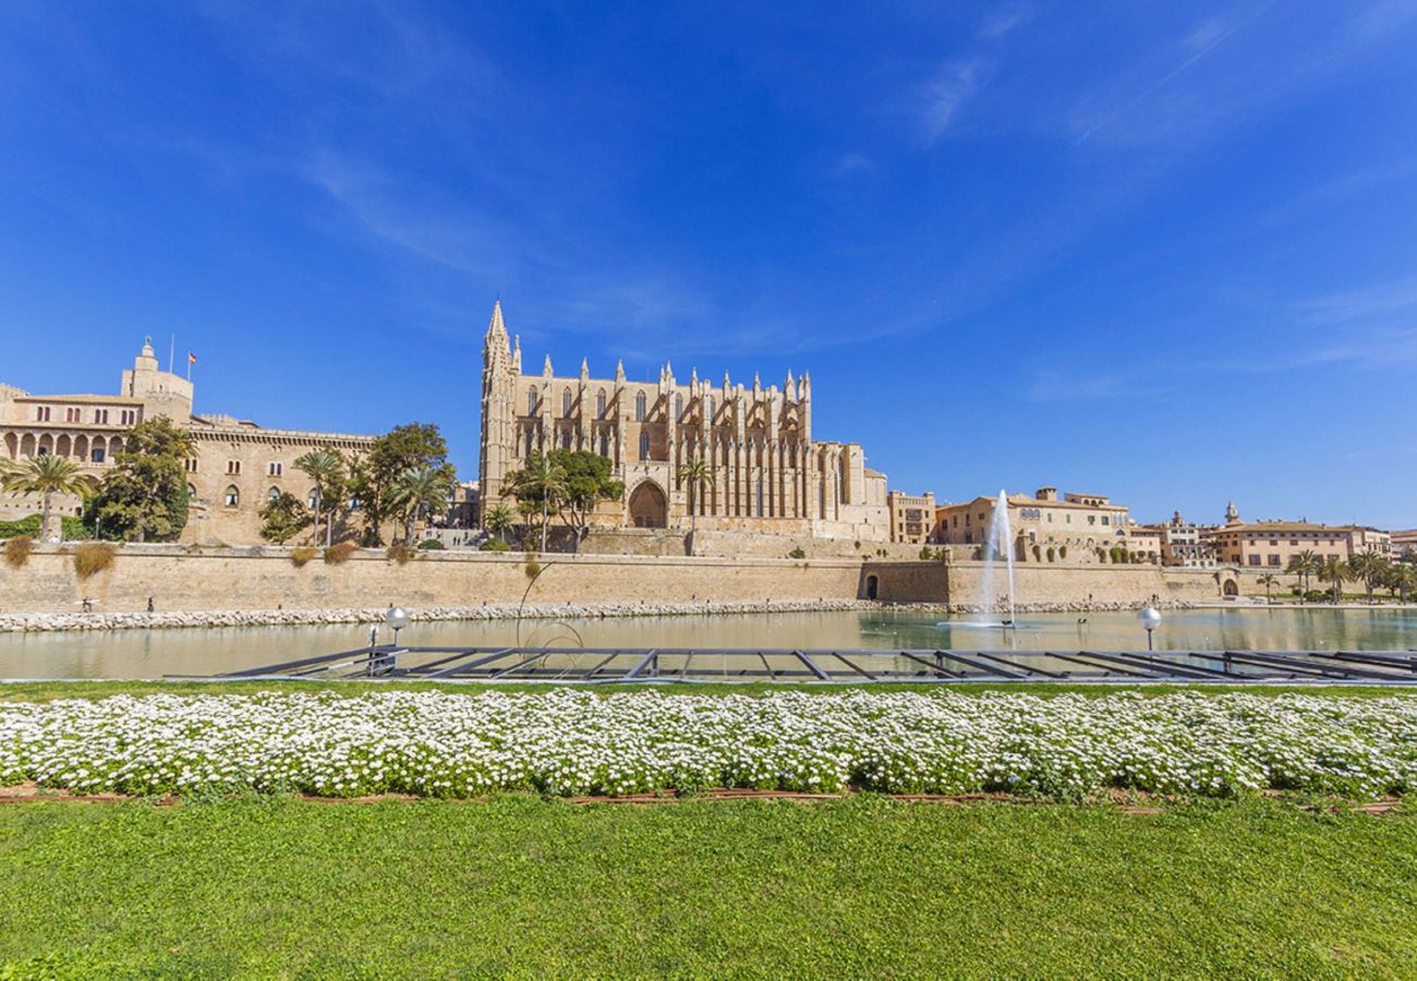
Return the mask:
<svg viewBox="0 0 1417 981">
<path fill-rule="evenodd" d="M 1417 525 L 1417 3 L 0 7 L 0 379 L 779 381 L 945 499 Z"/>
</svg>

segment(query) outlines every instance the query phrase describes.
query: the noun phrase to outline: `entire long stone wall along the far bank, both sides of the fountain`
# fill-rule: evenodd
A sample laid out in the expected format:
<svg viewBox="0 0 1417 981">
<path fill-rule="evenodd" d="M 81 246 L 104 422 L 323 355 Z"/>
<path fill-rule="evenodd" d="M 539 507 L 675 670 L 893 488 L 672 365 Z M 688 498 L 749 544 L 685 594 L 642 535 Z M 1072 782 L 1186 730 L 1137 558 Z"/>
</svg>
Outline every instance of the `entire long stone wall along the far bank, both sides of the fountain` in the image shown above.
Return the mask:
<svg viewBox="0 0 1417 981">
<path fill-rule="evenodd" d="M 530 594 L 530 573 L 541 568 Z M 1241 595 L 1263 594 L 1254 577 L 1221 568 L 1023 567 L 1015 597 L 1022 604 L 1142 604 L 1221 600 L 1221 583 L 1238 580 Z M 98 612 L 146 610 L 333 610 L 343 607 L 482 607 L 520 604 L 778 602 L 876 598 L 969 607 L 981 602 L 982 563 L 809 557 L 421 553 L 400 564 L 383 551 L 360 550 L 329 564 L 316 554 L 305 566 L 289 549 L 194 551 L 181 546 L 129 544 L 109 568 L 88 580 L 74 570 L 71 546 L 37 547 L 21 568 L 0 561 L 0 614 L 74 612 L 85 597 Z M 874 591 L 874 595 L 871 595 Z M 995 594 L 1007 591 L 996 570 Z"/>
</svg>

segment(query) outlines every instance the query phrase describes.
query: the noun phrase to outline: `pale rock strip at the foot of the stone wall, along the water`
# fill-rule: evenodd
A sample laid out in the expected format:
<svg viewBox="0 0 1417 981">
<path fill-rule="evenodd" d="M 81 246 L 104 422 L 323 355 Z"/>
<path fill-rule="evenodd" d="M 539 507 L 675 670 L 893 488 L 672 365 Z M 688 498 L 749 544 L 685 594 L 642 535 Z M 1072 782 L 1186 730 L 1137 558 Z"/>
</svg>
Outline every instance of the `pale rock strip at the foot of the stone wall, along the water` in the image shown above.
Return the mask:
<svg viewBox="0 0 1417 981">
<path fill-rule="evenodd" d="M 1161 604 L 1186 608 L 1193 604 Z M 1136 610 L 1135 602 L 1029 602 L 1016 612 L 1091 612 Z M 704 614 L 758 612 L 840 612 L 853 610 L 915 610 L 941 614 L 978 614 L 988 611 L 978 604 L 883 604 L 870 600 L 775 600 L 728 602 L 608 602 L 608 604 L 538 604 L 519 611 L 514 605 L 410 607 L 415 621 L 493 621 L 516 620 L 597 620 L 608 617 L 696 617 Z M 227 627 L 320 627 L 333 624 L 381 624 L 387 607 L 339 607 L 332 610 L 190 610 L 167 612 L 23 612 L 0 614 L 0 634 L 37 634 L 47 631 L 181 629 Z"/>
</svg>

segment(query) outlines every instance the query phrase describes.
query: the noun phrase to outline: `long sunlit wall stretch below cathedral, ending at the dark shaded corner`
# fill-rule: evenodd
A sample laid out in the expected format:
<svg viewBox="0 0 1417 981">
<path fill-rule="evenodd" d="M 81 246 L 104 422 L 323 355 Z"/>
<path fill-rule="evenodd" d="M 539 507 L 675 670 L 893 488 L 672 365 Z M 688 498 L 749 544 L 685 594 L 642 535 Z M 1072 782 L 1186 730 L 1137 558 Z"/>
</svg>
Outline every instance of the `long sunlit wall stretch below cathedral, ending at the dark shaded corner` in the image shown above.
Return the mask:
<svg viewBox="0 0 1417 981">
<path fill-rule="evenodd" d="M 657 604 L 854 598 L 860 561 L 706 560 L 639 556 L 546 556 L 536 604 Z M 537 566 L 531 566 L 531 570 Z M 361 550 L 340 564 L 316 556 L 296 567 L 288 549 L 125 546 L 113 564 L 79 581 L 72 549 L 38 547 L 23 568 L 0 561 L 0 612 L 146 610 L 329 610 L 517 604 L 529 561 L 517 553 L 422 553 L 407 564 Z"/>
</svg>

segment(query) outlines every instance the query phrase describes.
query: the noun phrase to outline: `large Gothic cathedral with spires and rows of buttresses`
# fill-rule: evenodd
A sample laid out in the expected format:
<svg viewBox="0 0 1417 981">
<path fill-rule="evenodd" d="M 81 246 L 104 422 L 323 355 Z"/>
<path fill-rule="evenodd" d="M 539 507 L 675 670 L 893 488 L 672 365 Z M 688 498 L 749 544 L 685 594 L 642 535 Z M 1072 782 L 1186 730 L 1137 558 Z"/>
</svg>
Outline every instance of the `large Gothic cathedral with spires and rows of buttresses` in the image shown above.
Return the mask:
<svg viewBox="0 0 1417 981">
<path fill-rule="evenodd" d="M 540 374 L 523 374 L 521 344 L 507 335 L 502 305 L 483 340 L 483 506 L 507 500 L 507 476 L 538 451 L 578 449 L 606 456 L 621 500 L 602 505 L 594 523 L 611 527 L 697 527 L 888 542 L 886 476 L 866 466 L 853 442 L 812 437 L 812 380 L 789 371 L 782 388 L 689 381 L 665 364 L 656 381 L 557 376 L 547 356 Z M 701 458 L 713 481 L 690 488 L 680 468 Z"/>
</svg>

